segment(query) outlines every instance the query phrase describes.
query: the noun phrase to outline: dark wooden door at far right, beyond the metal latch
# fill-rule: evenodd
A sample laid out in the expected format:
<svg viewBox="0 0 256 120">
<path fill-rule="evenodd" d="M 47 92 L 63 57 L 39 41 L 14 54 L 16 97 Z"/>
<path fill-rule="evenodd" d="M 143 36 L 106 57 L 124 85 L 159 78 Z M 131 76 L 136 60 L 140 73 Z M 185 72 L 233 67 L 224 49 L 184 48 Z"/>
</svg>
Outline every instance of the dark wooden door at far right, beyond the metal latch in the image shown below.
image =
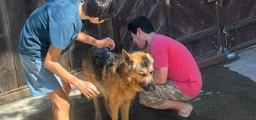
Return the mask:
<svg viewBox="0 0 256 120">
<path fill-rule="evenodd" d="M 221 4 L 222 27 L 226 26 L 227 48 L 230 52 L 256 44 L 256 1 L 225 0 Z M 225 37 L 226 35 L 226 37 Z"/>
</svg>

